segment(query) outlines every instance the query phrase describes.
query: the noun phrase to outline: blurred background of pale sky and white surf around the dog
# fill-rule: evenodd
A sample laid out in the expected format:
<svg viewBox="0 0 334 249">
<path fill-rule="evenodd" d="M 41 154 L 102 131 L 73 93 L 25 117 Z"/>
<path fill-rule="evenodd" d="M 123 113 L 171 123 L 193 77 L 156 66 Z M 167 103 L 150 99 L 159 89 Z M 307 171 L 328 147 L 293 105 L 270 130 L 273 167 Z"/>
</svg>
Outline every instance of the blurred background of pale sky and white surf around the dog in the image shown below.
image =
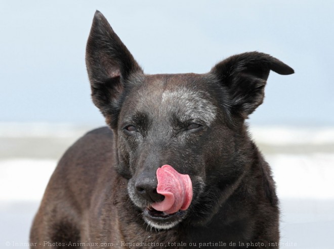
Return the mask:
<svg viewBox="0 0 334 249">
<path fill-rule="evenodd" d="M 85 46 L 101 11 L 146 73 L 204 73 L 259 51 L 271 73 L 249 131 L 281 200 L 281 248 L 332 248 L 334 2 L 0 0 L 0 248 L 26 248 L 66 148 L 104 120 L 92 104 Z"/>
</svg>

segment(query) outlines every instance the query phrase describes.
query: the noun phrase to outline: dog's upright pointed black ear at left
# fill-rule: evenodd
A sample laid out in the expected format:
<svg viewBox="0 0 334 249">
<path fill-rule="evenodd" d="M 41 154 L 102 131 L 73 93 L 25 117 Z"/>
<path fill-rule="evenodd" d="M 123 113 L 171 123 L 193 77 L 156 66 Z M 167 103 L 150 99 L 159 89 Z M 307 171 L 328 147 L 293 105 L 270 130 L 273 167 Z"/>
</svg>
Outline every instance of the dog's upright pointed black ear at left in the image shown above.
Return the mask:
<svg viewBox="0 0 334 249">
<path fill-rule="evenodd" d="M 131 75 L 143 70 L 99 11 L 87 41 L 86 66 L 93 102 L 115 128 L 125 84 Z"/>
</svg>

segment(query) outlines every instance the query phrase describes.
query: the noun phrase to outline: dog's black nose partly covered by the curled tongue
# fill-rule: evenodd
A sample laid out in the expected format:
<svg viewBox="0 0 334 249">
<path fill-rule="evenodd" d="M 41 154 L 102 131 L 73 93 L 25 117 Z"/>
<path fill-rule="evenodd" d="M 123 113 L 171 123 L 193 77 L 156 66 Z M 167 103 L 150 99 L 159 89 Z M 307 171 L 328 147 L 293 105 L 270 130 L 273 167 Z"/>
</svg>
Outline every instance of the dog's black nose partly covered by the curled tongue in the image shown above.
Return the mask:
<svg viewBox="0 0 334 249">
<path fill-rule="evenodd" d="M 161 202 L 164 199 L 162 194 L 156 192 L 157 182 L 153 177 L 140 177 L 135 183 L 137 193 L 150 202 Z"/>
</svg>

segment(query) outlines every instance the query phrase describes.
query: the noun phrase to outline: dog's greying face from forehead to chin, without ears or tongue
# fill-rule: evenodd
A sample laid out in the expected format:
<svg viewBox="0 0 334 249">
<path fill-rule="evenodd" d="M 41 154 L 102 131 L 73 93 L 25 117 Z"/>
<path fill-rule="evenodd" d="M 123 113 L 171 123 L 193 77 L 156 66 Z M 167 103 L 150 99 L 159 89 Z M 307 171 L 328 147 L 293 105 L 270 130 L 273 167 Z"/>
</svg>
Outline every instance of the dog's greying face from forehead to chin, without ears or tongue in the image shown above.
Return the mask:
<svg viewBox="0 0 334 249">
<path fill-rule="evenodd" d="M 156 193 L 157 168 L 168 164 L 188 174 L 195 203 L 204 189 L 214 137 L 225 132 L 215 92 L 203 86 L 207 77 L 142 75 L 133 79 L 136 86 L 123 101 L 117 124 L 119 172 L 130 178 L 131 200 L 155 228 L 173 227 L 189 210 L 168 215 L 150 208 L 163 198 Z"/>
</svg>

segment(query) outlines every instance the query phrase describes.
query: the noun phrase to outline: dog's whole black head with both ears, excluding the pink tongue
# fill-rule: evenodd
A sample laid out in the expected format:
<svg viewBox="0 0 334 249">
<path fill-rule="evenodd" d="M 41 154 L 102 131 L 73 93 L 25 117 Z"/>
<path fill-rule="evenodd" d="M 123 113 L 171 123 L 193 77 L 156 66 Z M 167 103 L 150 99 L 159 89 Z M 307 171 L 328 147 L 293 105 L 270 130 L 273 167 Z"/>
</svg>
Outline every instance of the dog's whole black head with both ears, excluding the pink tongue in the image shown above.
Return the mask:
<svg viewBox="0 0 334 249">
<path fill-rule="evenodd" d="M 117 171 L 129 179 L 129 196 L 144 220 L 158 229 L 215 213 L 227 186 L 242 176 L 236 156 L 240 127 L 263 102 L 269 71 L 294 72 L 252 52 L 232 56 L 206 74 L 147 75 L 100 12 L 86 64 L 93 102 L 115 134 Z M 156 190 L 156 171 L 165 164 L 190 176 L 187 210 L 169 214 L 151 208 L 164 198 Z"/>
</svg>

